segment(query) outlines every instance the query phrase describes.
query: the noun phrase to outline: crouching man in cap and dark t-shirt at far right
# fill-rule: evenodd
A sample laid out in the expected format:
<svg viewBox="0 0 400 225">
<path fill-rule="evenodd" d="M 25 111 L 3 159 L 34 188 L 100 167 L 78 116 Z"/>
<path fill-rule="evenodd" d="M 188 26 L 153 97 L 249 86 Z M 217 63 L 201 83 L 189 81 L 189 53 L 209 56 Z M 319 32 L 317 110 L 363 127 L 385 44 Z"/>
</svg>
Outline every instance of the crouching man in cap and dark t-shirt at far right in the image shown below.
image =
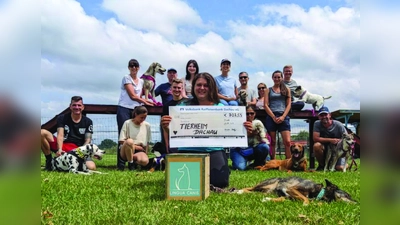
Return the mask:
<svg viewBox="0 0 400 225">
<path fill-rule="evenodd" d="M 332 119 L 331 113 L 326 106 L 319 110 L 318 119 L 315 121 L 313 129 L 313 151 L 318 161 L 317 170 L 324 170 L 327 145 L 337 144 L 343 133 L 347 134 L 347 130 L 341 122 Z M 335 169 L 342 171 L 344 166 L 347 166 L 345 158 L 339 158 Z"/>
</svg>

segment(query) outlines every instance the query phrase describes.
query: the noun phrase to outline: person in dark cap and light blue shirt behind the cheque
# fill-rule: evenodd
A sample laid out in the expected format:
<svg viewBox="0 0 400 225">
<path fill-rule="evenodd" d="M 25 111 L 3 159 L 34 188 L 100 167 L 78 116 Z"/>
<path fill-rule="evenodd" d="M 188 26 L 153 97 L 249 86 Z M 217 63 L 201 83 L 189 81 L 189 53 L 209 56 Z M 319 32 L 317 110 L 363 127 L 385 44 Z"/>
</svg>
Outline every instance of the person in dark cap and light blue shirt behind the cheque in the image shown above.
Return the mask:
<svg viewBox="0 0 400 225">
<path fill-rule="evenodd" d="M 222 104 L 237 106 L 239 103 L 238 90 L 236 85 L 236 79 L 228 76 L 231 69 L 231 61 L 228 59 L 222 59 L 221 61 L 221 72 L 222 74 L 215 77 L 215 82 L 218 88 L 218 97 Z"/>
</svg>

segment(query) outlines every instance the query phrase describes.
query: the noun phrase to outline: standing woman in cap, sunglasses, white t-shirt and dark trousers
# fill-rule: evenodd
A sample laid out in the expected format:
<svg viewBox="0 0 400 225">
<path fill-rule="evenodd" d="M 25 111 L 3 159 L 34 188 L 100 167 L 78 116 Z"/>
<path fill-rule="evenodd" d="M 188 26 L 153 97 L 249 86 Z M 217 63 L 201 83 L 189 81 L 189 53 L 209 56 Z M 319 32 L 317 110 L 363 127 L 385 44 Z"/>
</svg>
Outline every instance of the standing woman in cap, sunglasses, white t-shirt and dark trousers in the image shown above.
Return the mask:
<svg viewBox="0 0 400 225">
<path fill-rule="evenodd" d="M 138 77 L 138 71 L 140 69 L 139 62 L 136 59 L 131 59 L 128 62 L 129 74 L 122 78 L 121 82 L 121 93 L 118 100 L 117 108 L 117 124 L 118 134 L 121 132 L 122 125 L 124 122 L 132 117 L 133 109 L 140 105 L 153 106 L 153 102 L 141 98 L 143 90 L 143 80 Z M 120 146 L 118 146 L 118 149 Z M 117 167 L 123 170 L 125 162 L 117 154 Z"/>
</svg>

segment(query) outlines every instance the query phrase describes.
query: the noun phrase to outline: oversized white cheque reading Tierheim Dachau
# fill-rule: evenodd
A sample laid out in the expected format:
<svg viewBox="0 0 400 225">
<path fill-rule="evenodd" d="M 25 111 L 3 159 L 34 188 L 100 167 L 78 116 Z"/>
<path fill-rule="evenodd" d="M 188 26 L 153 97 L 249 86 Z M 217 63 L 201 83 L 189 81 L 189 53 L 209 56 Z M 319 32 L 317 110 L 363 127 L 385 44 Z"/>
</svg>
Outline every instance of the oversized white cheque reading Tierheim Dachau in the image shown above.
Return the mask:
<svg viewBox="0 0 400 225">
<path fill-rule="evenodd" d="M 244 106 L 170 106 L 170 147 L 247 147 Z"/>
</svg>

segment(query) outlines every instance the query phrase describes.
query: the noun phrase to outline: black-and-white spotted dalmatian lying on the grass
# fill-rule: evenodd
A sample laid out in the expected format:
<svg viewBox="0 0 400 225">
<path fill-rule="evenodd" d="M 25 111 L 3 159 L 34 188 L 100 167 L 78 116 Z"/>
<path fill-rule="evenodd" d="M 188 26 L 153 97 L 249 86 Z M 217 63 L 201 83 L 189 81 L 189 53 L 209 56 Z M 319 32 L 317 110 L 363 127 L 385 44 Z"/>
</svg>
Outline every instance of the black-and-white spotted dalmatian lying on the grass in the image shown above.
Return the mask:
<svg viewBox="0 0 400 225">
<path fill-rule="evenodd" d="M 99 149 L 95 144 L 83 145 L 59 157 L 53 158 L 52 170 L 83 175 L 91 175 L 92 173 L 102 174 L 99 171 L 89 170 L 86 167 L 86 160 L 88 157 L 100 160 L 104 153 L 105 151 Z"/>
</svg>

